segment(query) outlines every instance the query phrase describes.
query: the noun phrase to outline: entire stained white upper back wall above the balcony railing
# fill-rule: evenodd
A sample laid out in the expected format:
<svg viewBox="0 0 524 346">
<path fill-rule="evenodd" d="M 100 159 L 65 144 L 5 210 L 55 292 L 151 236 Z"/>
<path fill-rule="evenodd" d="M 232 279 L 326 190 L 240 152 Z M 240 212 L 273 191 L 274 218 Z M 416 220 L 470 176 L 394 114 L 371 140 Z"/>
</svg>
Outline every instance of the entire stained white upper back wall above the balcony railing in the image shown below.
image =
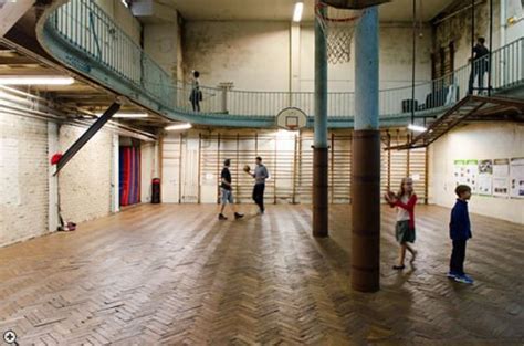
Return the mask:
<svg viewBox="0 0 524 346">
<path fill-rule="evenodd" d="M 411 83 L 411 25 L 380 24 L 380 87 Z M 233 82 L 235 90 L 302 91 L 314 88 L 314 30 L 312 23 L 209 22 L 185 25 L 186 72 L 199 70 L 201 84 Z M 417 82 L 431 78 L 431 29 L 417 40 Z M 329 91 L 354 90 L 354 65 L 331 65 Z M 423 95 L 426 96 L 426 95 Z"/>
</svg>

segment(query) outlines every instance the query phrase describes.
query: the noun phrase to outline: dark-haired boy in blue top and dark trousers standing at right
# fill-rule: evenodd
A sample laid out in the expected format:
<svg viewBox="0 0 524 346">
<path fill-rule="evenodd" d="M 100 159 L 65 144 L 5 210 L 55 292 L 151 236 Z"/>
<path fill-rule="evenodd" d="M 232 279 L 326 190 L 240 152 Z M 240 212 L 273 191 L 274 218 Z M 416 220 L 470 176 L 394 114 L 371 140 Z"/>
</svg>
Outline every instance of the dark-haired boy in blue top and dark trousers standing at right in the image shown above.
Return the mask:
<svg viewBox="0 0 524 346">
<path fill-rule="evenodd" d="M 459 185 L 454 192 L 459 198 L 451 210 L 450 238 L 453 241 L 453 251 L 451 252 L 448 277 L 457 282 L 472 284 L 473 279 L 464 273 L 465 242 L 471 238 L 471 223 L 468 213 L 471 188 L 467 185 Z"/>
</svg>

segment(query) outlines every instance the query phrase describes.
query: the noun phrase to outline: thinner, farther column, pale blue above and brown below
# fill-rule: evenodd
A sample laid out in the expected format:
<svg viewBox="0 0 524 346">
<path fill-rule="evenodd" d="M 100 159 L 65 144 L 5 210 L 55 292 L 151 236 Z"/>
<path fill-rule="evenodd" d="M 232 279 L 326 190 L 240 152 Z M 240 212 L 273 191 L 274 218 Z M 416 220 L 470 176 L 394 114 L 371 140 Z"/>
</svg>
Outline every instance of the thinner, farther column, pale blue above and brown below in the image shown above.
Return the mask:
<svg viewBox="0 0 524 346">
<path fill-rule="evenodd" d="M 322 9 L 321 11 L 324 11 Z M 315 18 L 315 135 L 313 146 L 313 235 L 327 237 L 328 145 L 327 145 L 327 48 L 326 36 Z"/>
</svg>

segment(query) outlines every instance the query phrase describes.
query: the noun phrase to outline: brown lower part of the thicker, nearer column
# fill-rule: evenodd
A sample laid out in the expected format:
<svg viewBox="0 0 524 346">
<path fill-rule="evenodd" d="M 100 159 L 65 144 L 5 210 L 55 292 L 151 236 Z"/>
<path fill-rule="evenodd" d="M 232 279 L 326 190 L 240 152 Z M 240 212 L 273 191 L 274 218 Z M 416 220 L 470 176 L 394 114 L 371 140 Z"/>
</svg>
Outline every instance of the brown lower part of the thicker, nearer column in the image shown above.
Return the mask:
<svg viewBox="0 0 524 346">
<path fill-rule="evenodd" d="M 352 174 L 352 287 L 380 289 L 380 132 L 355 130 Z"/>
</svg>

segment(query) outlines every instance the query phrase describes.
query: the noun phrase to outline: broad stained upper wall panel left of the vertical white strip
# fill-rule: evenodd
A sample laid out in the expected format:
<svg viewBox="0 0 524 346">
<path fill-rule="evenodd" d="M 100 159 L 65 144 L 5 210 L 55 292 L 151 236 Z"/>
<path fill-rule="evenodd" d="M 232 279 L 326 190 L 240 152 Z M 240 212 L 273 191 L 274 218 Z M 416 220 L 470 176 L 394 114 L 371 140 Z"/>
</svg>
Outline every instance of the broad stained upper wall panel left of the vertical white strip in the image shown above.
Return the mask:
<svg viewBox="0 0 524 346">
<path fill-rule="evenodd" d="M 184 31 L 184 65 L 201 73 L 200 83 L 233 82 L 235 90 L 286 91 L 290 23 L 195 21 Z"/>
</svg>

